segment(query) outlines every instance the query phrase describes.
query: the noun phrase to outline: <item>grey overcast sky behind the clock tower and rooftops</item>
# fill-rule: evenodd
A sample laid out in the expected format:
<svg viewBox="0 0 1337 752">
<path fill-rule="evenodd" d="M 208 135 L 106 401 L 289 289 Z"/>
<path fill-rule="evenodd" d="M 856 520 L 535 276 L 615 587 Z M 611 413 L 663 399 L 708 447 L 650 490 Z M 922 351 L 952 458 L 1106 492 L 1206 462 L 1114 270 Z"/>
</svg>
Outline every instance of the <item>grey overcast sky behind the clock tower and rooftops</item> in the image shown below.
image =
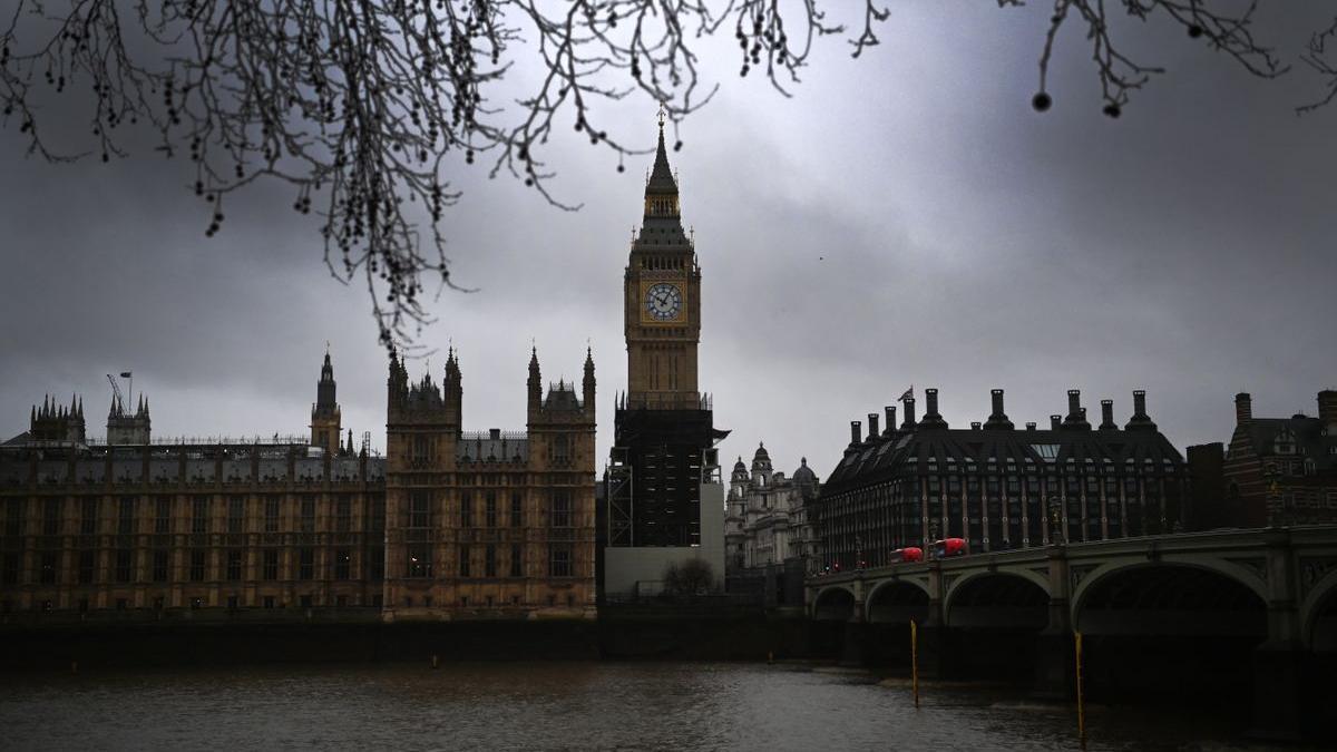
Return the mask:
<svg viewBox="0 0 1337 752">
<path fill-rule="evenodd" d="M 1046 3 L 896 3 L 882 44 L 850 60 L 826 40 L 796 96 L 737 76 L 731 39 L 703 59 L 722 82 L 670 155 L 702 265 L 701 384 L 722 455 L 759 440 L 777 470 L 825 478 L 849 420 L 910 384 L 965 427 L 1007 389 L 1044 424 L 1079 388 L 1092 415 L 1130 392 L 1181 448 L 1226 440 L 1233 395 L 1255 415 L 1314 413 L 1337 387 L 1337 106 L 1302 66 L 1249 76 L 1165 19 L 1127 51 L 1169 74 L 1123 116 L 1100 114 L 1080 29 L 1060 39 L 1054 108 L 1031 110 Z M 1275 4 L 1274 4 L 1275 5 Z M 1288 4 L 1294 11 L 1294 5 Z M 1313 11 L 1313 7 L 1309 7 Z M 1330 13 L 1330 11 L 1329 11 Z M 1314 17 L 1261 21 L 1294 60 Z M 650 147 L 655 104 L 604 110 Z M 599 452 L 626 388 L 622 274 L 651 157 L 627 163 L 572 135 L 548 153 L 563 213 L 483 170 L 447 214 L 453 278 L 421 341 L 440 380 L 453 341 L 467 430 L 521 428 L 525 364 L 599 379 Z M 259 189 L 206 240 L 185 162 L 47 165 L 0 128 L 0 438 L 47 392 L 84 396 L 104 435 L 104 373 L 134 371 L 154 434 L 306 432 L 326 340 L 345 428 L 384 448 L 384 351 L 365 289 L 332 280 L 316 225 Z M 428 363 L 410 365 L 420 376 Z M 602 470 L 602 459 L 600 459 Z"/>
</svg>

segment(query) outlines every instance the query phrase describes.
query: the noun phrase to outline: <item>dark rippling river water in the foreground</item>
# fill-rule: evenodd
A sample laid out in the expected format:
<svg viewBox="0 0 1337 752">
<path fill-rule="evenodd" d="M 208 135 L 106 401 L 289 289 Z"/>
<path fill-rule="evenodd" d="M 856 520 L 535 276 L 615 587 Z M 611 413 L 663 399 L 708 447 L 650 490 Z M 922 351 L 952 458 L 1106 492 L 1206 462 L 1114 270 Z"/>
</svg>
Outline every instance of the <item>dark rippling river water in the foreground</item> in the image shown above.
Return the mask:
<svg viewBox="0 0 1337 752">
<path fill-rule="evenodd" d="M 800 665 L 445 664 L 0 677 L 4 749 L 1078 749 L 1072 708 Z M 1267 749 L 1092 708 L 1087 749 Z M 1292 748 L 1293 749 L 1293 748 Z"/>
</svg>

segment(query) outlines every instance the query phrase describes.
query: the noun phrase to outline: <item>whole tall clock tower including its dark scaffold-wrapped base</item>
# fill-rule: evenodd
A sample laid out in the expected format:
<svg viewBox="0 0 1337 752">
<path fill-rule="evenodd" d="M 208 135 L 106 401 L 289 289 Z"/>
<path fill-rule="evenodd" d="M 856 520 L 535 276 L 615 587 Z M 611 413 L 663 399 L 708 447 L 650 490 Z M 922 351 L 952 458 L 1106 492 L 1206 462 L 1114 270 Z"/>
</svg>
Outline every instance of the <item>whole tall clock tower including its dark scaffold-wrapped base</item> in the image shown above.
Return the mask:
<svg viewBox="0 0 1337 752">
<path fill-rule="evenodd" d="M 722 574 L 723 495 L 718 494 L 717 504 L 713 447 L 729 432 L 714 428 L 710 397 L 697 384 L 701 266 L 694 238 L 683 231 L 678 181 L 668 167 L 663 127 L 660 108 L 659 147 L 646 181 L 644 217 L 631 241 L 623 278 L 628 384 L 614 417 L 607 518 L 600 534 L 610 550 L 654 547 L 668 557 L 663 561 L 683 555 L 718 558 Z M 644 562 L 659 558 L 635 561 L 646 567 Z M 615 559 L 618 555 L 608 559 L 610 578 L 616 574 Z M 659 577 L 658 570 L 640 574 Z"/>
</svg>

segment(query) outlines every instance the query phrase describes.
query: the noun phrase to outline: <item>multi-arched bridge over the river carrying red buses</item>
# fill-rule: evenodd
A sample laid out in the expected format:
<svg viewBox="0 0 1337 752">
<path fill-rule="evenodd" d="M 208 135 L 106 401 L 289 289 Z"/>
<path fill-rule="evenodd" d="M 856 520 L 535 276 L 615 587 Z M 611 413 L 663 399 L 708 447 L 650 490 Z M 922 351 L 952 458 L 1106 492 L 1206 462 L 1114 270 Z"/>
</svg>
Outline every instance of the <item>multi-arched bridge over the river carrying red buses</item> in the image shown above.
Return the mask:
<svg viewBox="0 0 1337 752">
<path fill-rule="evenodd" d="M 1074 692 L 1082 633 L 1083 677 L 1098 694 L 1229 689 L 1263 736 L 1313 733 L 1337 700 L 1337 526 L 896 563 L 810 578 L 805 607 L 848 661 L 908 662 L 913 620 L 921 674 L 1023 670 L 1055 696 Z"/>
</svg>

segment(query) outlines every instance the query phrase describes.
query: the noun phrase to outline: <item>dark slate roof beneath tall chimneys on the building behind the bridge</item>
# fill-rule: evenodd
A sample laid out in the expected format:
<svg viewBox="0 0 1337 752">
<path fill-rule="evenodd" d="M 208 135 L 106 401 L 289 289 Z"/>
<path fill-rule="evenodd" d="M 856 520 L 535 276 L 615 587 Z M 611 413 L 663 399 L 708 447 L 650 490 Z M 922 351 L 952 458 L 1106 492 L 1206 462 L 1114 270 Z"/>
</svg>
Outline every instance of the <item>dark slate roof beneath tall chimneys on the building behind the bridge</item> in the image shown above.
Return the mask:
<svg viewBox="0 0 1337 752">
<path fill-rule="evenodd" d="M 824 486 L 824 494 L 877 483 L 889 478 L 917 474 L 931 460 L 943 463 L 985 464 L 995 459 L 1007 467 L 1011 458 L 1019 468 L 1066 466 L 1074 463 L 1104 464 L 1134 460 L 1183 466 L 1183 456 L 1158 431 L 976 431 L 965 428 L 928 428 L 898 431 L 892 436 L 864 442 L 845 450 Z M 951 462 L 948 462 L 951 459 Z M 947 467 L 944 467 L 947 466 Z M 960 467 L 960 466 L 959 466 Z"/>
</svg>

